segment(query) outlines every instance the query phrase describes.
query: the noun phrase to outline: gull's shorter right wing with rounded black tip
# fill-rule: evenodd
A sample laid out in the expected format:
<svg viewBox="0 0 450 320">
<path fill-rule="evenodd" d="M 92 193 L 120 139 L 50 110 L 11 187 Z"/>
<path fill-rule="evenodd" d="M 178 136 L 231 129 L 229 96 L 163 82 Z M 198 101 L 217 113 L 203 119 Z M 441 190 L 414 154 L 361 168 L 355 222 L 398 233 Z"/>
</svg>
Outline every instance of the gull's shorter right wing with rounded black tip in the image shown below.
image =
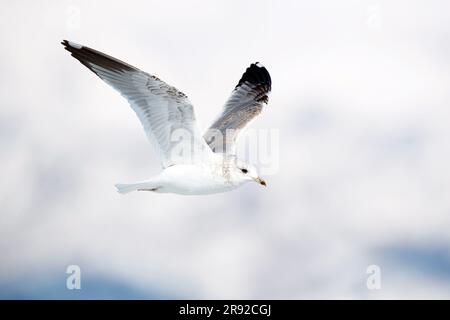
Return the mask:
<svg viewBox="0 0 450 320">
<path fill-rule="evenodd" d="M 247 68 L 226 102 L 222 114 L 204 134 L 214 152 L 235 153 L 241 130 L 259 115 L 269 101 L 272 80 L 259 62 Z"/>
</svg>

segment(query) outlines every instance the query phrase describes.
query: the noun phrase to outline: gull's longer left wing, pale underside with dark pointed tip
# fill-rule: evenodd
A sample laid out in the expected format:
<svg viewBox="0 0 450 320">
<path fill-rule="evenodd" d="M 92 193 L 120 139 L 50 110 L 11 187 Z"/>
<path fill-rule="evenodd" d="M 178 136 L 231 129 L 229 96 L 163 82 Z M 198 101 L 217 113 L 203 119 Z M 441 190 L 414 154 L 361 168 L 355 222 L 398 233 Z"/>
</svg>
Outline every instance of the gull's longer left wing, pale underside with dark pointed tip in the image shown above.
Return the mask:
<svg viewBox="0 0 450 320">
<path fill-rule="evenodd" d="M 187 96 L 157 77 L 97 50 L 64 40 L 65 49 L 130 103 L 163 168 L 200 161 L 211 150 Z"/>
</svg>

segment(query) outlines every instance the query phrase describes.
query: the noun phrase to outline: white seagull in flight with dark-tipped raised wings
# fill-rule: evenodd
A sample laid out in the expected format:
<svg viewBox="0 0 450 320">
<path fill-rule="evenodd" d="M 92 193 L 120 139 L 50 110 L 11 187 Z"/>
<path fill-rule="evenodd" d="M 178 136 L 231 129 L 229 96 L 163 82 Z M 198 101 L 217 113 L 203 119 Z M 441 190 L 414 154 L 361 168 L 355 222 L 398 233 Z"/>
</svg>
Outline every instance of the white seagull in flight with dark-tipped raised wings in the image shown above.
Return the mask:
<svg viewBox="0 0 450 320">
<path fill-rule="evenodd" d="M 202 135 L 183 92 L 100 51 L 67 40 L 61 44 L 128 100 L 159 155 L 162 171 L 158 175 L 116 184 L 119 193 L 206 195 L 250 181 L 266 186 L 258 170 L 236 156 L 238 135 L 268 104 L 272 80 L 261 63 L 246 69 L 221 114 Z"/>
</svg>

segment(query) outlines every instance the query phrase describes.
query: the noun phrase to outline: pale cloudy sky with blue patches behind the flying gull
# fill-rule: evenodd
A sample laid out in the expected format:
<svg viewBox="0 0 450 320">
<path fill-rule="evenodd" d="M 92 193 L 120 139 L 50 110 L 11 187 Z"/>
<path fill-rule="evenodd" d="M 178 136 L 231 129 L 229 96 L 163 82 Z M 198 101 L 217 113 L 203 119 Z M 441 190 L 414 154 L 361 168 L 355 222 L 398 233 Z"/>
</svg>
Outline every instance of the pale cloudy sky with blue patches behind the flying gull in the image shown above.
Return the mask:
<svg viewBox="0 0 450 320">
<path fill-rule="evenodd" d="M 450 298 L 448 1 L 2 1 L 0 298 Z M 122 196 L 160 167 L 60 45 L 185 92 L 207 128 L 245 68 L 273 91 L 268 188 Z M 68 265 L 82 289 L 65 288 Z M 378 265 L 381 289 L 368 290 Z"/>
</svg>

